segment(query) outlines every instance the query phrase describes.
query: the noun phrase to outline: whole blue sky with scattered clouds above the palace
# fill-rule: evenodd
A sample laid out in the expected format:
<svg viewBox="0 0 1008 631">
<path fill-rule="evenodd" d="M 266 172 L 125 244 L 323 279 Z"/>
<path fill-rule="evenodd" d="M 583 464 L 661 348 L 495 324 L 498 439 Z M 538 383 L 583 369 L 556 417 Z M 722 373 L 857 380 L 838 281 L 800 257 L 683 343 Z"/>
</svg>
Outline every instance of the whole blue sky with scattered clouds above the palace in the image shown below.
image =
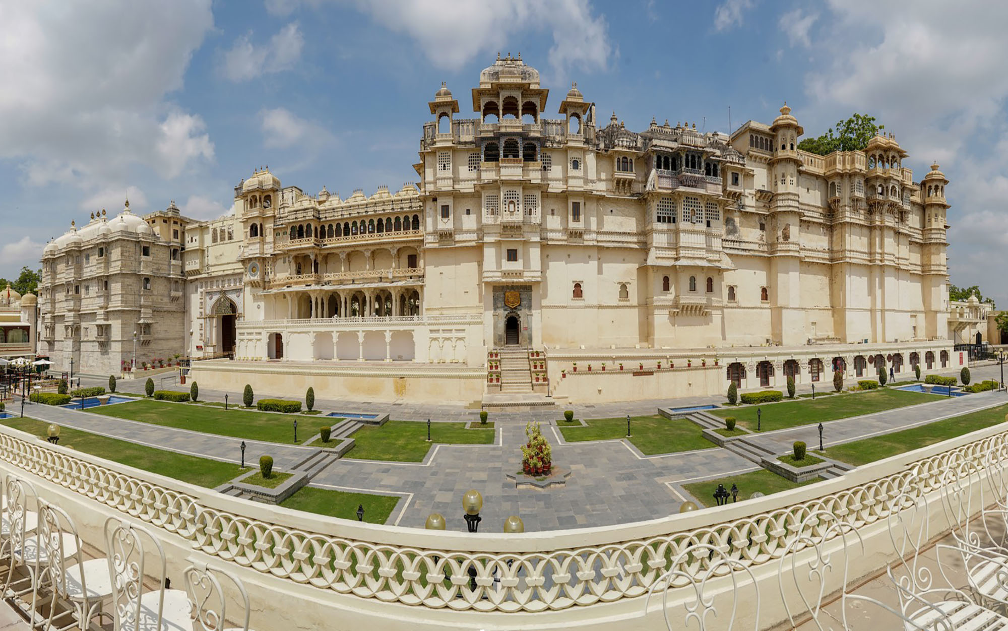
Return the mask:
<svg viewBox="0 0 1008 631">
<path fill-rule="evenodd" d="M 470 112 L 498 52 L 599 118 L 729 131 L 786 101 L 858 112 L 951 180 L 950 270 L 1008 307 L 1008 3 L 960 0 L 0 0 L 0 276 L 71 220 L 174 201 L 210 219 L 268 165 L 343 198 L 414 181 L 440 83 Z M 909 9 L 909 10 L 908 10 Z"/>
</svg>

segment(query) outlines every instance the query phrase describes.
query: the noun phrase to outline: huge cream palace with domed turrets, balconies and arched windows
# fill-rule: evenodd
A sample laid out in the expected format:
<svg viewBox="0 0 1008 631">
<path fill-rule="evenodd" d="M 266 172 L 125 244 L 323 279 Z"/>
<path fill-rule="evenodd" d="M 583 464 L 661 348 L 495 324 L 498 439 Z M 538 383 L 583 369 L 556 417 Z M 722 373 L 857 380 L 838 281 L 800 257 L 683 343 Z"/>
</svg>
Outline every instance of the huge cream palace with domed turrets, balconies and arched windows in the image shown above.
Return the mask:
<svg viewBox="0 0 1008 631">
<path fill-rule="evenodd" d="M 230 214 L 128 208 L 50 242 L 40 352 L 207 387 L 620 400 L 951 368 L 944 187 L 891 135 L 797 148 L 784 105 L 731 135 L 600 120 L 520 55 L 427 104 L 416 183 L 346 199 L 256 169 Z M 468 106 L 469 101 L 463 100 Z M 135 335 L 134 335 L 135 332 Z M 216 358 L 216 359 L 215 359 Z"/>
</svg>

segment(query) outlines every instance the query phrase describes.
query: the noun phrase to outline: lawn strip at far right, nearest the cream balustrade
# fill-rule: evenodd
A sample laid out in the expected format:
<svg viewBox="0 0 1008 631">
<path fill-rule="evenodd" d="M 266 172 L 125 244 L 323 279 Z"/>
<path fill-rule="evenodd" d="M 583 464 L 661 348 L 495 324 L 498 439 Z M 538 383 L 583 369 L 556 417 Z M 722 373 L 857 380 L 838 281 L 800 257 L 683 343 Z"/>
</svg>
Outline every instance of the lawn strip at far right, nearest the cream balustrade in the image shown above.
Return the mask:
<svg viewBox="0 0 1008 631">
<path fill-rule="evenodd" d="M 999 405 L 998 407 L 980 410 L 979 412 L 946 418 L 944 420 L 920 425 L 919 427 L 911 427 L 910 429 L 895 431 L 881 436 L 845 443 L 844 445 L 829 448 L 825 454 L 830 458 L 851 465 L 864 465 L 895 456 L 896 454 L 940 443 L 941 440 L 976 431 L 977 429 L 996 425 L 997 423 L 1004 422 L 1006 413 L 1008 413 L 1008 405 Z M 815 453 L 820 454 L 821 452 L 816 451 Z"/>
</svg>

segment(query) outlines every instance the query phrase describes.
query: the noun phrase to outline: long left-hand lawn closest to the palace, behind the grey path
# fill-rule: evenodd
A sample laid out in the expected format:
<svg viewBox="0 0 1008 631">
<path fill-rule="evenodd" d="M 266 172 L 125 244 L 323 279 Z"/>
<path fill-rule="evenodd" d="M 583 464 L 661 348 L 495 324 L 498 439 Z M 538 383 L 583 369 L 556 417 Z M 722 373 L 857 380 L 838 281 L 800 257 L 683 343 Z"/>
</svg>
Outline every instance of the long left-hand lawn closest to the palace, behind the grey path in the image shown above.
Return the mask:
<svg viewBox="0 0 1008 631">
<path fill-rule="evenodd" d="M 128 418 L 153 425 L 180 427 L 204 433 L 217 433 L 236 438 L 251 438 L 267 443 L 292 444 L 293 421 L 297 421 L 297 439 L 319 433 L 320 427 L 332 425 L 338 419 L 303 416 L 301 414 L 276 414 L 271 412 L 225 410 L 206 405 L 179 405 L 149 399 L 115 405 L 89 407 L 93 414 Z"/>
</svg>

